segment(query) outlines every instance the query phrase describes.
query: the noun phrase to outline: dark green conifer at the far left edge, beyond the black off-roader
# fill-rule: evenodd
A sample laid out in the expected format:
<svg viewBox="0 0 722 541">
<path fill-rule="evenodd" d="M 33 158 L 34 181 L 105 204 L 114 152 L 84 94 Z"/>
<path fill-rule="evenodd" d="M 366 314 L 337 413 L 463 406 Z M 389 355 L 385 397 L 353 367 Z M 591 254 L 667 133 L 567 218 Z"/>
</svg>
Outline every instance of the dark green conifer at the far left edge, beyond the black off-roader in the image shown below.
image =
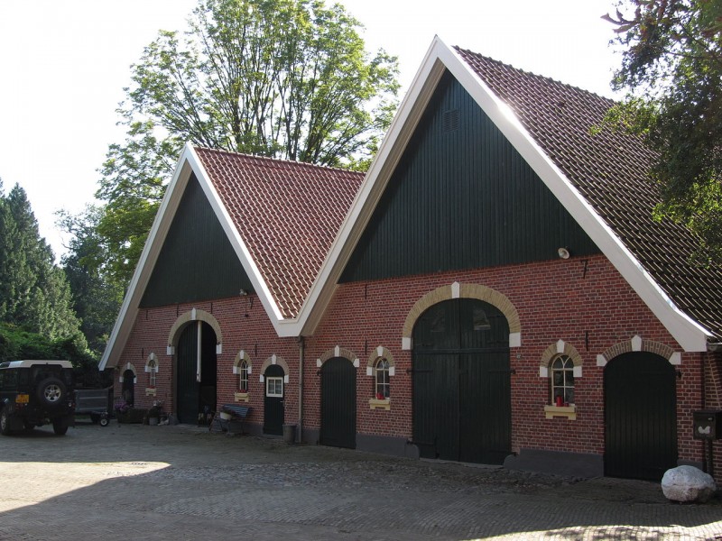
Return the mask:
<svg viewBox="0 0 722 541">
<path fill-rule="evenodd" d="M 0 320 L 50 339 L 78 335 L 68 282 L 39 234 L 25 191 L 15 185 L 7 197 L 2 196 Z"/>
</svg>

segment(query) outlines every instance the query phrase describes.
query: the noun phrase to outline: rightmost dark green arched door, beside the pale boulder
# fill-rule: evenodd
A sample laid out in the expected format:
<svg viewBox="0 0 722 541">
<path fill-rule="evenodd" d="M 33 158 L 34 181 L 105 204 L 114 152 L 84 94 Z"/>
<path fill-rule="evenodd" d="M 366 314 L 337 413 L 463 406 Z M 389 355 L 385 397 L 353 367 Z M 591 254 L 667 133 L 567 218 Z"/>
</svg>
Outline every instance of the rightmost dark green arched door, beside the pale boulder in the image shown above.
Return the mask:
<svg viewBox="0 0 722 541">
<path fill-rule="evenodd" d="M 604 371 L 605 474 L 660 481 L 677 466 L 674 367 L 654 353 L 624 353 Z"/>
</svg>

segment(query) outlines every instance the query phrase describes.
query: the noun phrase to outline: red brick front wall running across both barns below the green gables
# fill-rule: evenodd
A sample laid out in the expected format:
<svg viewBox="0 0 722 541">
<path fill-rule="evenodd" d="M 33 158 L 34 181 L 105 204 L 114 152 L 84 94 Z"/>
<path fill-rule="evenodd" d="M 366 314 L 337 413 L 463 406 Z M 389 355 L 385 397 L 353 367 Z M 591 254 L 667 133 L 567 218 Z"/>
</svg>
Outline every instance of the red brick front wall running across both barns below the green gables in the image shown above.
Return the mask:
<svg viewBox="0 0 722 541">
<path fill-rule="evenodd" d="M 306 338 L 304 358 L 304 427 L 319 429 L 320 379 L 316 360 L 336 346 L 359 360 L 357 381 L 357 431 L 370 436 L 412 436 L 412 353 L 402 349 L 403 325 L 414 303 L 430 291 L 461 284 L 477 284 L 502 293 L 514 304 L 521 319 L 521 347 L 511 348 L 512 446 L 551 451 L 602 454 L 604 452 L 604 368 L 597 355 L 628 343 L 635 335 L 662 344 L 674 352 L 680 347 L 642 300 L 603 256 L 473 271 L 442 272 L 393 280 L 340 284 L 314 335 Z M 218 403 L 234 402 L 238 376 L 233 362 L 240 350 L 247 353 L 253 373 L 249 380 L 249 423 L 263 424 L 264 384 L 261 365 L 272 354 L 290 367 L 285 387 L 285 422 L 298 421 L 299 344 L 279 338 L 255 295 L 171 307 L 142 309 L 119 362 L 134 364 L 138 382 L 135 403 L 150 407 L 162 399 L 174 411 L 173 362 L 166 354 L 168 335 L 178 317 L 192 308 L 205 310 L 217 320 L 223 335 L 218 355 Z M 549 381 L 539 375 L 542 353 L 557 341 L 574 346 L 582 358 L 582 377 L 575 381 L 577 419 L 546 419 Z M 391 409 L 372 409 L 375 380 L 366 375 L 369 356 L 378 346 L 393 355 Z M 146 397 L 148 355 L 158 358 L 157 397 Z M 328 357 L 328 355 L 327 355 Z M 707 359 L 707 357 L 705 357 Z M 719 388 L 720 360 L 708 360 L 709 376 Z M 681 353 L 681 378 L 677 380 L 678 439 L 680 460 L 701 461 L 703 446 L 691 438 L 692 416 L 702 403 L 702 355 Z M 122 373 L 119 370 L 117 376 Z M 717 378 L 717 380 L 714 380 Z M 714 382 L 716 381 L 716 382 Z M 708 383 L 709 387 L 710 383 Z M 116 385 L 120 395 L 121 385 Z M 708 397 L 713 396 L 708 391 Z M 170 405 L 170 406 L 169 406 Z M 311 442 L 312 443 L 312 442 Z M 716 447 L 718 451 L 718 447 Z M 717 456 L 720 453 L 717 452 Z M 722 465 L 717 464 L 717 471 Z"/>
</svg>

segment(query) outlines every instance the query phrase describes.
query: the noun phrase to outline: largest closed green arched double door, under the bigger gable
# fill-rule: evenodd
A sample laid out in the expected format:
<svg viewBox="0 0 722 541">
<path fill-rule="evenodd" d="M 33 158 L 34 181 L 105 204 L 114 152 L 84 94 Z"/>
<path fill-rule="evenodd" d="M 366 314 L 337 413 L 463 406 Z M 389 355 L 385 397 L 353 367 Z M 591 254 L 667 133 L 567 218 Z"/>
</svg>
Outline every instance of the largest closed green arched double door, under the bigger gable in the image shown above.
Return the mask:
<svg viewBox="0 0 722 541">
<path fill-rule="evenodd" d="M 417 321 L 413 442 L 422 457 L 470 463 L 511 452 L 509 326 L 496 307 L 448 300 Z"/>
</svg>

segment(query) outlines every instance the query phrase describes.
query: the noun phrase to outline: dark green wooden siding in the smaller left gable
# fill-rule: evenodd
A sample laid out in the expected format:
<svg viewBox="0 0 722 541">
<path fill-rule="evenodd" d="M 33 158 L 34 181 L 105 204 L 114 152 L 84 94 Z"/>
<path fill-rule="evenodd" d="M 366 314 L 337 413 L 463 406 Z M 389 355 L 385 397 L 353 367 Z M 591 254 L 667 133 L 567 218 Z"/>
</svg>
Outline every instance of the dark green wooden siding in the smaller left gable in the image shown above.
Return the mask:
<svg viewBox="0 0 722 541">
<path fill-rule="evenodd" d="M 173 217 L 141 307 L 235 297 L 252 291 L 218 217 L 191 177 Z"/>
</svg>

